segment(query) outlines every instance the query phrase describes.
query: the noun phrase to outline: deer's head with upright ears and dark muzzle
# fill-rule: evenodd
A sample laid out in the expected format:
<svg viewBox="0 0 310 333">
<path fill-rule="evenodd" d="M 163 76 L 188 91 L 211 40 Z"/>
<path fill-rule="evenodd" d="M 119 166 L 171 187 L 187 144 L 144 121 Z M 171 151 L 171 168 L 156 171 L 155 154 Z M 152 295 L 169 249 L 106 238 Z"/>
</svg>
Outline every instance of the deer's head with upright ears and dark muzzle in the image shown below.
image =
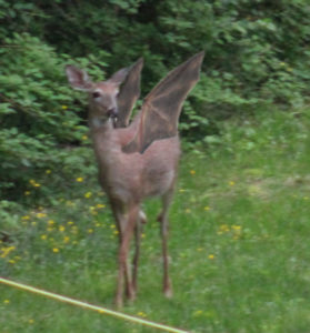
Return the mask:
<svg viewBox="0 0 310 333">
<path fill-rule="evenodd" d="M 73 89 L 86 91 L 89 95 L 89 118 L 92 127 L 118 118 L 118 94 L 120 84 L 128 75 L 128 69 L 117 71 L 109 80 L 94 83 L 88 73 L 74 65 L 67 65 L 67 78 Z"/>
</svg>

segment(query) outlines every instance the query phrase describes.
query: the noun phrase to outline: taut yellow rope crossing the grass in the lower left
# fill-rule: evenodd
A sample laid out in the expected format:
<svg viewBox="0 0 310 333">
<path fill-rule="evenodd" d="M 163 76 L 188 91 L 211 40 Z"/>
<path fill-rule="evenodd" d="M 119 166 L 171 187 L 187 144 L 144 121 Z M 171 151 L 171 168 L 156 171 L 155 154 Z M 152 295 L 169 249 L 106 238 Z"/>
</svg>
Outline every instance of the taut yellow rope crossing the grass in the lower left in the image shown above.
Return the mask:
<svg viewBox="0 0 310 333">
<path fill-rule="evenodd" d="M 101 307 L 101 306 L 91 305 L 89 303 L 84 303 L 84 302 L 73 300 L 73 299 L 70 299 L 70 297 L 67 297 L 67 296 L 54 294 L 54 293 L 51 293 L 51 292 L 48 292 L 48 291 L 44 291 L 44 290 L 40 290 L 40 289 L 33 287 L 33 286 L 30 286 L 30 285 L 22 284 L 22 283 L 13 282 L 13 281 L 10 281 L 10 280 L 3 279 L 3 278 L 0 278 L 0 283 L 3 283 L 3 284 L 10 285 L 10 286 L 14 286 L 17 289 L 26 290 L 28 292 L 39 294 L 39 295 L 46 296 L 48 299 L 53 299 L 53 300 L 57 300 L 57 301 L 60 301 L 60 302 L 64 302 L 64 303 L 69 303 L 69 304 L 72 304 L 72 305 L 80 306 L 80 307 L 89 309 L 89 310 L 97 311 L 97 312 L 102 313 L 102 314 L 109 314 L 109 315 L 112 315 L 112 316 L 116 316 L 116 317 L 119 317 L 119 319 L 122 319 L 122 320 L 126 320 L 126 321 L 131 321 L 133 323 L 139 323 L 139 324 L 150 326 L 150 327 L 154 327 L 154 329 L 158 329 L 158 330 L 162 330 L 162 331 L 167 331 L 167 332 L 174 332 L 174 333 L 187 333 L 187 331 L 183 331 L 183 330 L 179 330 L 179 329 L 166 326 L 166 325 L 162 325 L 162 324 L 158 324 L 158 323 L 154 323 L 154 322 L 146 321 L 146 320 L 140 319 L 140 317 L 131 316 L 131 315 L 128 315 L 128 314 L 124 314 L 124 313 L 121 313 L 121 312 L 117 312 L 117 311 L 112 311 L 112 310 L 109 310 L 109 309 L 104 309 L 104 307 Z"/>
</svg>

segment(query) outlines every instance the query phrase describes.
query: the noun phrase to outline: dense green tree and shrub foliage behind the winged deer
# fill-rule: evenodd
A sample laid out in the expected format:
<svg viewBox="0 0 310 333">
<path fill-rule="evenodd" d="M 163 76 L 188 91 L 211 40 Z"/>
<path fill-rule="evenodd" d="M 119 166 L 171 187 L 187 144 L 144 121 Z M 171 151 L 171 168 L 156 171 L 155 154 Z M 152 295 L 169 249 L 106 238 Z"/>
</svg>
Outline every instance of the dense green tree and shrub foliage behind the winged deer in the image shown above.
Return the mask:
<svg viewBox="0 0 310 333">
<path fill-rule="evenodd" d="M 46 170 L 62 186 L 66 172 L 93 172 L 86 103 L 68 88 L 66 63 L 102 79 L 143 57 L 146 94 L 206 50 L 180 128 L 189 141 L 208 141 L 214 120 L 233 112 L 309 101 L 309 22 L 308 0 L 0 0 L 2 195 L 16 199 Z"/>
</svg>

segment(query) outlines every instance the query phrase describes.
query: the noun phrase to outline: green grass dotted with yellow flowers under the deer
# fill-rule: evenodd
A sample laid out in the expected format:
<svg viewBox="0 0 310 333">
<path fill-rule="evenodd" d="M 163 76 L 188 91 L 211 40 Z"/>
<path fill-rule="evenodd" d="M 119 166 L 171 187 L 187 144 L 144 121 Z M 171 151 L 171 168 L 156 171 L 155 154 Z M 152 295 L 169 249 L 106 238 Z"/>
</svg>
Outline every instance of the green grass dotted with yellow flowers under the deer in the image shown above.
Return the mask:
<svg viewBox="0 0 310 333">
<path fill-rule="evenodd" d="M 170 213 L 174 296 L 161 291 L 159 203 L 146 204 L 139 295 L 123 312 L 191 332 L 309 332 L 310 110 L 223 123 L 186 153 Z M 23 212 L 1 275 L 112 307 L 117 234 L 99 188 Z M 68 199 L 69 195 L 69 199 Z M 9 249 L 9 250 L 8 250 Z M 1 333 L 157 332 L 0 285 Z"/>
</svg>

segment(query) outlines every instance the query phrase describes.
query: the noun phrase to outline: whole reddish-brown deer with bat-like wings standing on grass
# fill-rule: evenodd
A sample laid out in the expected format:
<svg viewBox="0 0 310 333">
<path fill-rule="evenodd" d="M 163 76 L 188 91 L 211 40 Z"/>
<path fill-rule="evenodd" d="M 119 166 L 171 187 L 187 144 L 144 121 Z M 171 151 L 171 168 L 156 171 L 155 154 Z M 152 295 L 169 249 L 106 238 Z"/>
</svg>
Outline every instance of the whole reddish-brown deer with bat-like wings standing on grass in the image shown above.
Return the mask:
<svg viewBox="0 0 310 333">
<path fill-rule="evenodd" d="M 180 159 L 178 122 L 188 93 L 200 77 L 204 52 L 178 65 L 144 98 L 130 122 L 140 97 L 143 59 L 122 68 L 108 80 L 92 82 L 88 73 L 68 64 L 71 88 L 88 93 L 89 127 L 98 163 L 99 183 L 107 193 L 119 234 L 116 305 L 137 295 L 141 225 L 147 216 L 141 203 L 160 196 L 158 215 L 162 239 L 163 293 L 172 296 L 168 256 L 168 212 L 172 201 Z M 130 243 L 134 235 L 132 271 Z"/>
</svg>

